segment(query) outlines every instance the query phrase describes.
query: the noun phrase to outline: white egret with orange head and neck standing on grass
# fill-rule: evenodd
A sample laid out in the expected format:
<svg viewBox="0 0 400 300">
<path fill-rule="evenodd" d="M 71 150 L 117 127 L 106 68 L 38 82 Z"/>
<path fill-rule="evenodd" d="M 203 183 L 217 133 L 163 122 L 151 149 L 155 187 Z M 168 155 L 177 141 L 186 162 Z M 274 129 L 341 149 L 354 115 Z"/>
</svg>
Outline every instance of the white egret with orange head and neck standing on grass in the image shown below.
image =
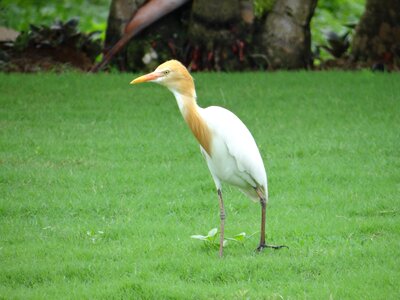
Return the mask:
<svg viewBox="0 0 400 300">
<path fill-rule="evenodd" d="M 267 175 L 253 136 L 232 112 L 218 106 L 197 105 L 192 76 L 179 61 L 169 60 L 154 72 L 134 79 L 131 84 L 155 82 L 167 87 L 176 98 L 183 118 L 200 143 L 200 150 L 217 188 L 220 207 L 220 246 L 223 255 L 225 208 L 222 183 L 238 187 L 261 203 L 261 236 L 258 251 L 285 246 L 265 242 L 265 219 L 268 202 Z"/>
</svg>

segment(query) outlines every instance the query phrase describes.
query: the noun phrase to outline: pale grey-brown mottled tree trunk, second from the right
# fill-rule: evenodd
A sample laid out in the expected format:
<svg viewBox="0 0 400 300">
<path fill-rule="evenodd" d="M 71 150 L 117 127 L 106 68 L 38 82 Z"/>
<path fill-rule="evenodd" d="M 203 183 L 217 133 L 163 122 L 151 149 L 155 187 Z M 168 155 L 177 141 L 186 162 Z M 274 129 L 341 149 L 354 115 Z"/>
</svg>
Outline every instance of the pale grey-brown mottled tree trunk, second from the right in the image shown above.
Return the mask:
<svg viewBox="0 0 400 300">
<path fill-rule="evenodd" d="M 317 0 L 279 0 L 267 16 L 262 34 L 271 69 L 311 66 L 310 21 Z"/>
</svg>

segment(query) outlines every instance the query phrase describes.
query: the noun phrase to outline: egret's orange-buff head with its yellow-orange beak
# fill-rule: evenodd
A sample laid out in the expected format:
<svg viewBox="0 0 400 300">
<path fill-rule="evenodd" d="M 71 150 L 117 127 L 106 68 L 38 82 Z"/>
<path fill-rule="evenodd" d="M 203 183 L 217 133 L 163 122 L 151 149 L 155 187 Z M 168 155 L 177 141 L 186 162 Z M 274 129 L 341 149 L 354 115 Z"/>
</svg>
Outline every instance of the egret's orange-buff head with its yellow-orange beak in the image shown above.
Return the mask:
<svg viewBox="0 0 400 300">
<path fill-rule="evenodd" d="M 166 61 L 159 65 L 154 72 L 132 80 L 131 84 L 142 82 L 155 82 L 182 95 L 194 94 L 193 78 L 185 66 L 177 60 Z"/>
</svg>

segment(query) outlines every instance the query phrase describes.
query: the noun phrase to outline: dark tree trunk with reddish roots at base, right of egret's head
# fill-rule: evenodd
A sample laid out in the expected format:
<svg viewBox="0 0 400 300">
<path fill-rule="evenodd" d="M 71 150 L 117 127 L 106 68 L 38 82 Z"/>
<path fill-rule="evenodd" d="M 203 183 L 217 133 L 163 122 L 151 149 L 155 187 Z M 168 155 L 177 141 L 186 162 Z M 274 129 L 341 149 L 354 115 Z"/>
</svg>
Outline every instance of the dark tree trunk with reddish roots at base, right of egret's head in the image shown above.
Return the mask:
<svg viewBox="0 0 400 300">
<path fill-rule="evenodd" d="M 241 70 L 254 21 L 252 0 L 194 0 L 189 24 L 192 70 Z"/>
</svg>

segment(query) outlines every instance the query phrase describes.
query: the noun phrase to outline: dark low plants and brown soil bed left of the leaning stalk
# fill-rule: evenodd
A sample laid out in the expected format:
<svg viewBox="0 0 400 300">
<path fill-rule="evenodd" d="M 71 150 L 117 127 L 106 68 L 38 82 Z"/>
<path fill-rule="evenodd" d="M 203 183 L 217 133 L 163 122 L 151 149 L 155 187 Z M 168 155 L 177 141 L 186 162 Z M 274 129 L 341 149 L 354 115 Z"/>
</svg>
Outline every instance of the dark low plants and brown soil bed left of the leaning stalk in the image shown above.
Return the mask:
<svg viewBox="0 0 400 300">
<path fill-rule="evenodd" d="M 98 32 L 81 33 L 78 21 L 31 25 L 26 32 L 0 31 L 0 70 L 5 72 L 89 70 L 101 52 Z"/>
</svg>

